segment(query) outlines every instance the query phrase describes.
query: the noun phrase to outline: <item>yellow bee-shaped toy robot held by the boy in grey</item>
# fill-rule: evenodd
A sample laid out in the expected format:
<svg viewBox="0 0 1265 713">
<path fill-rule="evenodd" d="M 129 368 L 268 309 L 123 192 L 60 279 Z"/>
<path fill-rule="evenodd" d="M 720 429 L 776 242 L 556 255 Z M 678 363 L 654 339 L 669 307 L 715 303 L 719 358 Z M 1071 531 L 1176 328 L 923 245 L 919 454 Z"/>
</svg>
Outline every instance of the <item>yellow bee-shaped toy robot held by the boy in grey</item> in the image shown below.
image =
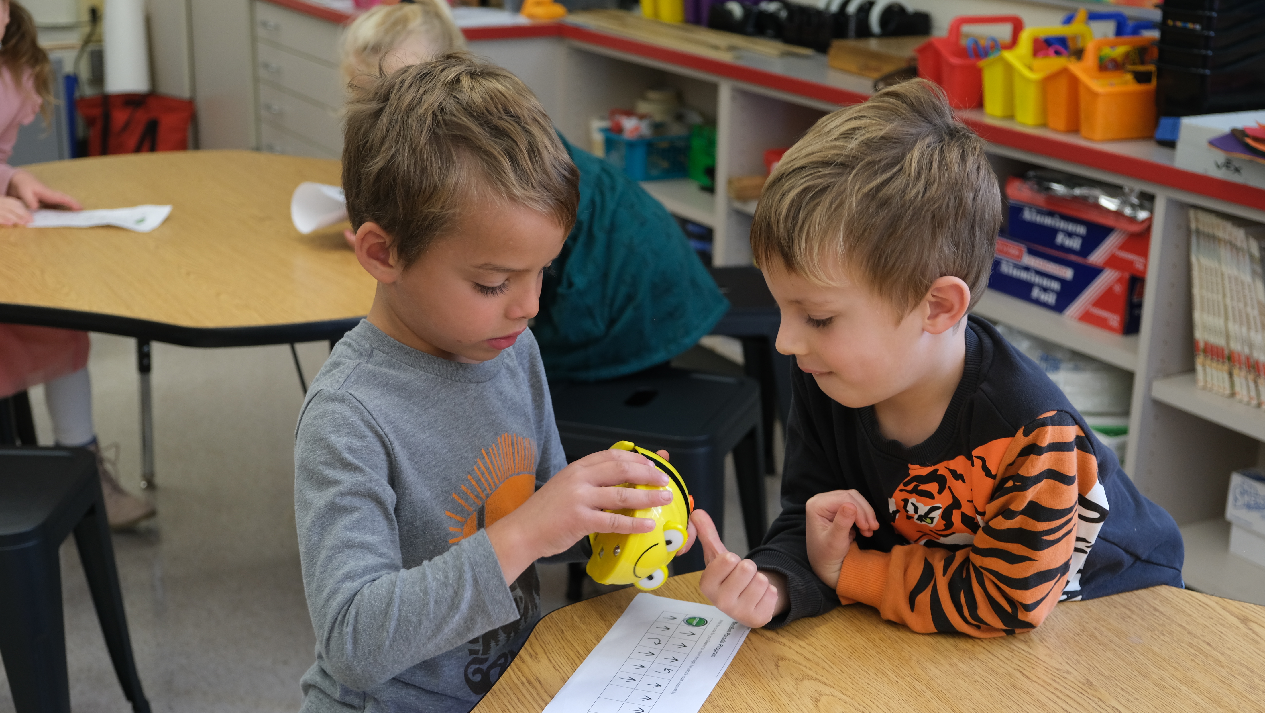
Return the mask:
<svg viewBox="0 0 1265 713">
<path fill-rule="evenodd" d="M 686 527 L 689 524 L 689 514 L 694 510 L 694 499 L 686 489 L 686 481 L 677 472 L 677 469 L 668 465 L 668 461 L 660 458 L 658 453 L 638 448 L 629 441 L 620 441 L 611 448 L 636 451 L 649 458 L 655 467 L 668 474 L 669 484 L 667 488 L 632 485 L 631 483 L 620 488 L 672 490 L 673 498 L 670 503 L 658 508 L 610 510 L 621 515 L 653 519 L 654 529 L 634 534 L 612 532 L 589 534 L 588 542 L 593 547 L 593 555 L 588 557 L 588 567 L 584 571 L 593 577 L 593 581 L 631 584 L 641 591 L 650 591 L 668 580 L 668 562 L 686 543 Z"/>
</svg>

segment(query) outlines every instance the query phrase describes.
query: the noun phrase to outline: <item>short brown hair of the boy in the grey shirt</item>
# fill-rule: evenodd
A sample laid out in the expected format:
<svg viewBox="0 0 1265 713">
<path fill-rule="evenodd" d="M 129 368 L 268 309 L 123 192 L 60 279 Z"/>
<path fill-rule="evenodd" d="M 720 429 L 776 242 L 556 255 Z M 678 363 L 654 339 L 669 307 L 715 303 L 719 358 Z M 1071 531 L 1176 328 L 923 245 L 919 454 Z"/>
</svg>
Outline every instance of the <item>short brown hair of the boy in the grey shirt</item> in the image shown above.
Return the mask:
<svg viewBox="0 0 1265 713">
<path fill-rule="evenodd" d="M 496 65 L 450 52 L 402 67 L 355 91 L 345 122 L 352 227 L 382 225 L 405 266 L 477 200 L 576 224 L 579 171 L 531 90 Z"/>
</svg>

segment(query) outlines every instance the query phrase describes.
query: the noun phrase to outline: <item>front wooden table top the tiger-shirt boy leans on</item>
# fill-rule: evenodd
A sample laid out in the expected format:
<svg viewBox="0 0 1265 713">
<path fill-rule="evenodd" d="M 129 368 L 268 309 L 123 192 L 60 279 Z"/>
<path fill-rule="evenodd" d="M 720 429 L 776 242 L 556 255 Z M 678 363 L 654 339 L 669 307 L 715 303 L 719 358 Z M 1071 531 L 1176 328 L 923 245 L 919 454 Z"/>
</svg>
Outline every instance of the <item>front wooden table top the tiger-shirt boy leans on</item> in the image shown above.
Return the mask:
<svg viewBox="0 0 1265 713">
<path fill-rule="evenodd" d="M 545 617 L 474 713 L 543 709 L 631 588 Z M 655 594 L 706 602 L 698 572 Z M 1265 607 L 1156 586 L 1059 604 L 1036 631 L 918 634 L 854 604 L 755 629 L 702 710 L 1260 710 Z"/>
</svg>

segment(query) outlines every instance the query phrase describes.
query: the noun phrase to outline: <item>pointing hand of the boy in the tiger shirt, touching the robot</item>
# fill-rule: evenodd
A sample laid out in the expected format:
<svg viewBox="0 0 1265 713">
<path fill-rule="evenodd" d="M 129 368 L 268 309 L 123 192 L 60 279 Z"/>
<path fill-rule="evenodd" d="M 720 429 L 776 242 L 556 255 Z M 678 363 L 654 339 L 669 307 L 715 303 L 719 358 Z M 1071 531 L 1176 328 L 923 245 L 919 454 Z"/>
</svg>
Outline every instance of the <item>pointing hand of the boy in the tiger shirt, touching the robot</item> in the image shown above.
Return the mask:
<svg viewBox="0 0 1265 713">
<path fill-rule="evenodd" d="M 707 565 L 698 580 L 703 596 L 741 624 L 759 628 L 769 623 L 777 614 L 778 588 L 758 571 L 755 562 L 725 548 L 711 515 L 696 509 L 691 521 L 698 532 Z"/>
</svg>

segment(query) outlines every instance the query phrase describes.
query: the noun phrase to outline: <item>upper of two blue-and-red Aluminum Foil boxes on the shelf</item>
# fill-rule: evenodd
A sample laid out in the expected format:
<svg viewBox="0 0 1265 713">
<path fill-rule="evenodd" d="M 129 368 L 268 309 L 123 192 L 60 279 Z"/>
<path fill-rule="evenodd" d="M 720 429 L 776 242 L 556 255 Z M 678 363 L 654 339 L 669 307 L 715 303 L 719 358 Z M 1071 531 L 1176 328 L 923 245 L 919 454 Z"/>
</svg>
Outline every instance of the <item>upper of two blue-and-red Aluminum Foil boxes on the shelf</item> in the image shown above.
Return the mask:
<svg viewBox="0 0 1265 713">
<path fill-rule="evenodd" d="M 1146 277 L 1151 222 L 1131 220 L 1071 199 L 1055 199 L 1030 189 L 1011 176 L 1006 184 L 1011 201 L 1007 233 L 1026 243 L 1052 249 L 1092 265 Z"/>
</svg>

